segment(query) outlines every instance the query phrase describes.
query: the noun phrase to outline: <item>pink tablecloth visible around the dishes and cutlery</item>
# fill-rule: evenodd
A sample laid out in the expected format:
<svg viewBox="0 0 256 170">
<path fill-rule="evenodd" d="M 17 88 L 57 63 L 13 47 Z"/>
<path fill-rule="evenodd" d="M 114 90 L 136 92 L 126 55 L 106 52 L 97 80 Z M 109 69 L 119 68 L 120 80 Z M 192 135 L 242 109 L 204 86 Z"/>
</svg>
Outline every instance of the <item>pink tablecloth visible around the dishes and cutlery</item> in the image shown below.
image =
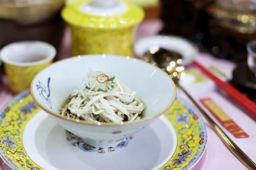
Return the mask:
<svg viewBox="0 0 256 170">
<path fill-rule="evenodd" d="M 154 27 L 154 29 L 146 29 L 148 25 Z M 146 35 L 154 35 L 157 34 L 161 29 L 162 23 L 158 20 L 153 21 L 144 21 L 140 27 L 138 28 L 137 37 L 142 37 Z M 148 31 L 146 31 L 148 30 Z M 140 34 L 141 32 L 141 34 Z M 63 44 L 62 44 L 61 56 L 62 58 L 66 58 L 69 56 L 69 48 L 70 47 L 70 30 L 67 29 Z M 206 67 L 210 65 L 216 66 L 222 72 L 224 72 L 228 78 L 232 76 L 232 70 L 234 69 L 234 64 L 229 61 L 224 61 L 220 59 L 216 59 L 208 54 L 200 53 L 196 60 L 203 64 Z M 207 88 L 207 87 L 206 87 Z M 178 90 L 178 95 L 183 98 L 187 97 Z M 15 94 L 12 94 L 7 85 L 6 76 L 0 72 L 0 109 L 4 107 L 4 105 L 10 101 Z M 204 93 L 198 93 L 193 95 L 194 98 L 199 102 L 200 98 L 210 97 L 214 102 L 220 106 L 250 137 L 248 138 L 240 138 L 236 139 L 229 131 L 227 131 L 222 125 L 218 123 L 215 117 L 205 109 L 205 111 L 214 119 L 222 129 L 224 129 L 225 133 L 254 161 L 256 162 L 256 122 L 251 119 L 238 104 L 236 104 L 232 99 L 226 96 L 225 93 L 221 92 L 218 88 L 213 88 Z M 202 105 L 201 105 L 202 106 Z M 204 106 L 202 106 L 205 108 Z M 206 121 L 205 121 L 206 122 Z M 245 166 L 236 159 L 236 157 L 225 147 L 216 133 L 211 129 L 210 125 L 206 122 L 207 133 L 208 133 L 208 143 L 206 147 L 206 151 L 202 156 L 201 160 L 196 164 L 193 170 L 216 170 L 216 169 L 246 169 Z M 0 169 L 9 170 L 8 166 L 3 163 L 3 160 L 0 160 Z"/>
</svg>

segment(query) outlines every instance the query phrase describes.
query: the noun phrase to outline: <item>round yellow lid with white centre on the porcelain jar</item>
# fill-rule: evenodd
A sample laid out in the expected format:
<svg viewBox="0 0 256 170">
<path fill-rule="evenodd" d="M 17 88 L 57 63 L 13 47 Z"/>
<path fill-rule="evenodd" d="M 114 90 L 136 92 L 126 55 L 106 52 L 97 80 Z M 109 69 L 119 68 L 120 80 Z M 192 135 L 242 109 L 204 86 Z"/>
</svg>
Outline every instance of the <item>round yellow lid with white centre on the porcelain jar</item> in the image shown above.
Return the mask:
<svg viewBox="0 0 256 170">
<path fill-rule="evenodd" d="M 66 6 L 62 18 L 71 25 L 115 29 L 136 25 L 144 11 L 126 0 L 80 0 Z"/>
</svg>

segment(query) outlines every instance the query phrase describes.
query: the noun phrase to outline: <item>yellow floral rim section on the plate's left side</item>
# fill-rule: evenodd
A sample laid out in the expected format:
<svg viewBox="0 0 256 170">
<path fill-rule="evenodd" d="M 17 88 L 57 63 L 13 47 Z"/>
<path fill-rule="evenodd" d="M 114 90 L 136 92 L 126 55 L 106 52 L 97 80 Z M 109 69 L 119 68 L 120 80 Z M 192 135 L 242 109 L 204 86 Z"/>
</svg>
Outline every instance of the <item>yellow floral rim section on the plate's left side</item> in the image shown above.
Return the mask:
<svg viewBox="0 0 256 170">
<path fill-rule="evenodd" d="M 26 123 L 39 110 L 29 91 L 25 91 L 0 111 L 0 156 L 14 169 L 42 169 L 32 161 L 22 143 Z"/>
</svg>

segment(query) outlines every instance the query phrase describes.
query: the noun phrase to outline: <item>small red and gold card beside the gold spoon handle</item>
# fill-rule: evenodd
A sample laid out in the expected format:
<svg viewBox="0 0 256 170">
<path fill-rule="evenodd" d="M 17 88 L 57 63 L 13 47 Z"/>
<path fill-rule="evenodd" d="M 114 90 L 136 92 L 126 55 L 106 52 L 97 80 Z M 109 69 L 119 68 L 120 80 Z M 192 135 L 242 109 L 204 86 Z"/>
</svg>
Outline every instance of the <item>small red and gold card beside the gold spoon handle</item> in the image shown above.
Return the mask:
<svg viewBox="0 0 256 170">
<path fill-rule="evenodd" d="M 207 109 L 220 121 L 220 123 L 230 131 L 236 138 L 249 137 L 212 99 L 200 99 Z"/>
</svg>

